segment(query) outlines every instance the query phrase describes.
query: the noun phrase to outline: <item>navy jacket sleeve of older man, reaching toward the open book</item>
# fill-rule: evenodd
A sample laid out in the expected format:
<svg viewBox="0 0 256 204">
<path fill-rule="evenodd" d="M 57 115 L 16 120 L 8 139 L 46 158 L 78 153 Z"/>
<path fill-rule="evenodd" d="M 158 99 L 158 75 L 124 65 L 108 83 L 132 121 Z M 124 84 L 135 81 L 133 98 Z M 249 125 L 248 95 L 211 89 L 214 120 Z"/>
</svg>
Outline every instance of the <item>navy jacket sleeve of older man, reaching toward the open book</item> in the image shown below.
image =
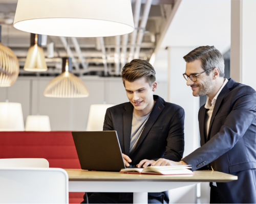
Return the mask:
<svg viewBox="0 0 256 204">
<path fill-rule="evenodd" d="M 204 165 L 218 159 L 230 150 L 245 134 L 248 127 L 256 119 L 256 93 L 244 94 L 234 103 L 219 133 L 212 137 L 202 147 L 196 149 L 183 159 L 197 170 L 198 164 Z"/>
</svg>

